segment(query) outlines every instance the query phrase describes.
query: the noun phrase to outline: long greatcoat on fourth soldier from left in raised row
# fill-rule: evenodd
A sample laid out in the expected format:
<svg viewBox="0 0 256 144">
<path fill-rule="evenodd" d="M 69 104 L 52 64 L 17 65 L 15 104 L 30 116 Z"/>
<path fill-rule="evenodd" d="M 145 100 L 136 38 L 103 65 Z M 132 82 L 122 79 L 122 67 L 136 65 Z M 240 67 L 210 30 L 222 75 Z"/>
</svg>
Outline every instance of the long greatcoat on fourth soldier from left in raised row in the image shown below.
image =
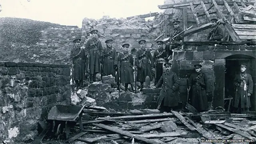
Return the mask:
<svg viewBox="0 0 256 144">
<path fill-rule="evenodd" d="M 120 53 L 118 55 L 118 62 L 120 62 L 120 83 L 128 84 L 134 82 L 133 76 L 133 63 L 134 59 L 132 54 Z"/>
</svg>

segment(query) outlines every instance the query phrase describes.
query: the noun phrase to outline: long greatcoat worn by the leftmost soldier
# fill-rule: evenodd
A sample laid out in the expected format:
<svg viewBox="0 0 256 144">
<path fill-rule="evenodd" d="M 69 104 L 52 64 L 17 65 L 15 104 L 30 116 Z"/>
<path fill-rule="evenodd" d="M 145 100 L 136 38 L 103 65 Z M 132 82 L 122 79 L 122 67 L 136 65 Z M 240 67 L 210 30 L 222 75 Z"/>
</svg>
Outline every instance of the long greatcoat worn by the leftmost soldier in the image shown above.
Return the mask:
<svg viewBox="0 0 256 144">
<path fill-rule="evenodd" d="M 85 79 L 85 52 L 83 48 L 74 47 L 70 52 L 70 61 L 74 64 L 74 80 Z"/>
</svg>

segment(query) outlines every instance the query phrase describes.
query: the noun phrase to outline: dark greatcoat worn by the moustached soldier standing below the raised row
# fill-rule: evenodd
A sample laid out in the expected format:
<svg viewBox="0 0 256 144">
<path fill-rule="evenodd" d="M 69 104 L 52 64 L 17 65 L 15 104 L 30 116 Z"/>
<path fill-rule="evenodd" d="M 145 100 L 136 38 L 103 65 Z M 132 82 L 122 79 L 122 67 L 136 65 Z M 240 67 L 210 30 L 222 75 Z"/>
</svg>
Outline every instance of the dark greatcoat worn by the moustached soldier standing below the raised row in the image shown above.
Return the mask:
<svg viewBox="0 0 256 144">
<path fill-rule="evenodd" d="M 163 102 L 163 106 L 174 107 L 178 106 L 179 96 L 179 80 L 178 76 L 174 72 L 164 72 L 160 80 L 156 84 L 156 88 L 162 85 L 160 95 L 157 100 L 157 105 L 160 106 Z"/>
</svg>

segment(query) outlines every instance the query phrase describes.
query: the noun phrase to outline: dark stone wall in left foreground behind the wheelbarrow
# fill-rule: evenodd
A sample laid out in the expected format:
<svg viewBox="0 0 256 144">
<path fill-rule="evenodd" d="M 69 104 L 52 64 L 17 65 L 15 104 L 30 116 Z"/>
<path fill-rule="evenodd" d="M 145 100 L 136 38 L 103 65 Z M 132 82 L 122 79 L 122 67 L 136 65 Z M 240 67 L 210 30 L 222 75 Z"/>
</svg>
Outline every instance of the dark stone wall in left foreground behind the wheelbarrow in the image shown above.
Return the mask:
<svg viewBox="0 0 256 144">
<path fill-rule="evenodd" d="M 28 141 L 55 104 L 70 104 L 68 65 L 0 62 L 0 141 Z"/>
</svg>

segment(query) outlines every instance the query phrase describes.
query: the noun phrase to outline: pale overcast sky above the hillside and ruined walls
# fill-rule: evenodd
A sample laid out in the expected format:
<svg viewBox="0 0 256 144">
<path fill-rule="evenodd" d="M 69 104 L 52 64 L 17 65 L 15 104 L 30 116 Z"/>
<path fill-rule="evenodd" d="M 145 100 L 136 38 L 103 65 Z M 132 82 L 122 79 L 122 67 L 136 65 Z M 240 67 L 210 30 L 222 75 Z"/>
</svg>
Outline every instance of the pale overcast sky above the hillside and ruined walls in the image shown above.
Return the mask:
<svg viewBox="0 0 256 144">
<path fill-rule="evenodd" d="M 62 25 L 82 26 L 82 19 L 102 16 L 126 18 L 163 12 L 164 0 L 0 0 L 0 17 L 28 18 Z"/>
</svg>

